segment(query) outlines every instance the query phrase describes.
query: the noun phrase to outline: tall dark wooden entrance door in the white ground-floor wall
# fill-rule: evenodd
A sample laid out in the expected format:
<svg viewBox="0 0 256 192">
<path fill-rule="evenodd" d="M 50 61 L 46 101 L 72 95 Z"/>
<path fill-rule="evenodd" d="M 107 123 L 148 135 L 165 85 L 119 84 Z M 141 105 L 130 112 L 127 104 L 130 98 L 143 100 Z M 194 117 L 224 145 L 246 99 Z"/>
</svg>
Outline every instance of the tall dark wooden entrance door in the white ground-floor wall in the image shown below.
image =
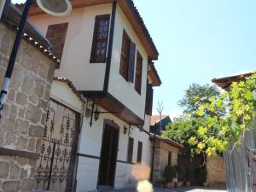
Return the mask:
<svg viewBox="0 0 256 192">
<path fill-rule="evenodd" d="M 119 129 L 106 124 L 102 135 L 102 152 L 98 186 L 113 187 L 119 145 Z"/>
</svg>

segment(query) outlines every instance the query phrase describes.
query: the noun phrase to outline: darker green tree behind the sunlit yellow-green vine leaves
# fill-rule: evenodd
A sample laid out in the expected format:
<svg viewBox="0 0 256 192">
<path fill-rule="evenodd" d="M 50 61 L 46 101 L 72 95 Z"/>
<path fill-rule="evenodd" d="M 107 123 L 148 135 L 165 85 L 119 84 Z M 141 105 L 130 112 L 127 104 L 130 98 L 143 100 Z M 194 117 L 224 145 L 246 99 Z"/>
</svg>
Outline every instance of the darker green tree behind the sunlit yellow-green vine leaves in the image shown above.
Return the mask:
<svg viewBox="0 0 256 192">
<path fill-rule="evenodd" d="M 192 119 L 188 114 L 196 116 L 193 112 L 197 111 L 202 104 L 207 103 L 212 96 L 219 96 L 219 94 L 218 87 L 215 85 L 189 85 L 183 99 L 178 102 L 184 108 L 183 113 L 187 115 L 174 119 L 172 124 L 166 126 L 166 131 L 162 133 L 162 136 L 182 143 L 185 148 L 190 148 L 189 138 L 197 135 L 196 127 L 200 127 L 205 119 L 201 117 Z M 207 117 L 207 115 L 204 116 Z"/>
</svg>

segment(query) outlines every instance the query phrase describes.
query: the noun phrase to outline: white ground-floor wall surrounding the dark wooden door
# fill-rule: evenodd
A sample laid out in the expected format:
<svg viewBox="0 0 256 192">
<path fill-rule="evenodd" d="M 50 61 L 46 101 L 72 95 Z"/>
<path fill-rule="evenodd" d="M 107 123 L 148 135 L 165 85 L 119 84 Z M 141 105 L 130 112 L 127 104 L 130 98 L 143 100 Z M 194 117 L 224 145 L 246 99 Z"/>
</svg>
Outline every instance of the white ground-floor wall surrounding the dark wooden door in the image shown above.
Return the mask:
<svg viewBox="0 0 256 192">
<path fill-rule="evenodd" d="M 101 111 L 104 111 L 102 108 Z M 128 131 L 124 134 L 124 126 L 128 127 L 125 122 L 113 116 L 110 113 L 100 113 L 100 118 L 95 121 L 93 119 L 92 126 L 90 127 L 90 117 L 84 117 L 83 128 L 79 139 L 79 154 L 93 155 L 100 157 L 102 148 L 102 131 L 104 119 L 113 120 L 114 123 L 119 125 L 119 150 L 118 160 L 126 161 L 128 150 L 128 138 L 134 138 L 133 145 L 133 159 L 132 162 L 137 162 L 137 143 L 138 141 L 143 143 L 143 155 L 142 160 L 144 163 L 150 166 L 150 141 L 147 133 L 139 131 L 137 127 L 132 126 L 130 129 L 130 135 Z M 149 121 L 149 119 L 148 119 Z M 117 162 L 116 174 L 115 174 L 115 189 L 124 189 L 135 187 L 136 180 L 131 176 L 131 164 Z M 79 166 L 77 175 L 77 191 L 93 191 L 96 190 L 96 184 L 98 179 L 99 160 L 79 156 Z"/>
</svg>

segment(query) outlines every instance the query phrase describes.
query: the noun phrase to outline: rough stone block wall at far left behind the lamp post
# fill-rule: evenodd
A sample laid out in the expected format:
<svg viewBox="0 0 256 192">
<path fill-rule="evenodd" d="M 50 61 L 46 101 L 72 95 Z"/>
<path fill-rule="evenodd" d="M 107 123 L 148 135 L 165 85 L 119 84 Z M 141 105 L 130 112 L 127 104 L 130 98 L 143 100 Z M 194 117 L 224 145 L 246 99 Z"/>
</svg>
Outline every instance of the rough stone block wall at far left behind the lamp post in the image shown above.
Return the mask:
<svg viewBox="0 0 256 192">
<path fill-rule="evenodd" d="M 14 39 L 15 31 L 0 22 L 0 84 Z M 54 70 L 53 61 L 22 40 L 0 120 L 0 192 L 31 191 L 35 184 Z M 6 148 L 11 154 L 3 155 Z"/>
</svg>

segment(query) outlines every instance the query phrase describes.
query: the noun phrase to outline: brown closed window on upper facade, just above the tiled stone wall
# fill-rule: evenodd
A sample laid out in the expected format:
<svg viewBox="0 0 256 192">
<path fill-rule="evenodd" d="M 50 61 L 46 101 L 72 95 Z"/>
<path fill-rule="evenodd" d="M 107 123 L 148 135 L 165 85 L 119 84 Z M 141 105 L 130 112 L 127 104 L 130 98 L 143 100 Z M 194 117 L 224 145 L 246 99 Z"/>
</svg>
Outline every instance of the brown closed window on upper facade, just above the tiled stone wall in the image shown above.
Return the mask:
<svg viewBox="0 0 256 192">
<path fill-rule="evenodd" d="M 46 38 L 49 39 L 50 43 L 53 46 L 53 53 L 59 60 L 61 60 L 62 57 L 62 52 L 67 35 L 67 26 L 68 23 L 49 25 L 46 33 Z M 58 64 L 56 68 L 60 68 L 60 64 Z"/>
</svg>

